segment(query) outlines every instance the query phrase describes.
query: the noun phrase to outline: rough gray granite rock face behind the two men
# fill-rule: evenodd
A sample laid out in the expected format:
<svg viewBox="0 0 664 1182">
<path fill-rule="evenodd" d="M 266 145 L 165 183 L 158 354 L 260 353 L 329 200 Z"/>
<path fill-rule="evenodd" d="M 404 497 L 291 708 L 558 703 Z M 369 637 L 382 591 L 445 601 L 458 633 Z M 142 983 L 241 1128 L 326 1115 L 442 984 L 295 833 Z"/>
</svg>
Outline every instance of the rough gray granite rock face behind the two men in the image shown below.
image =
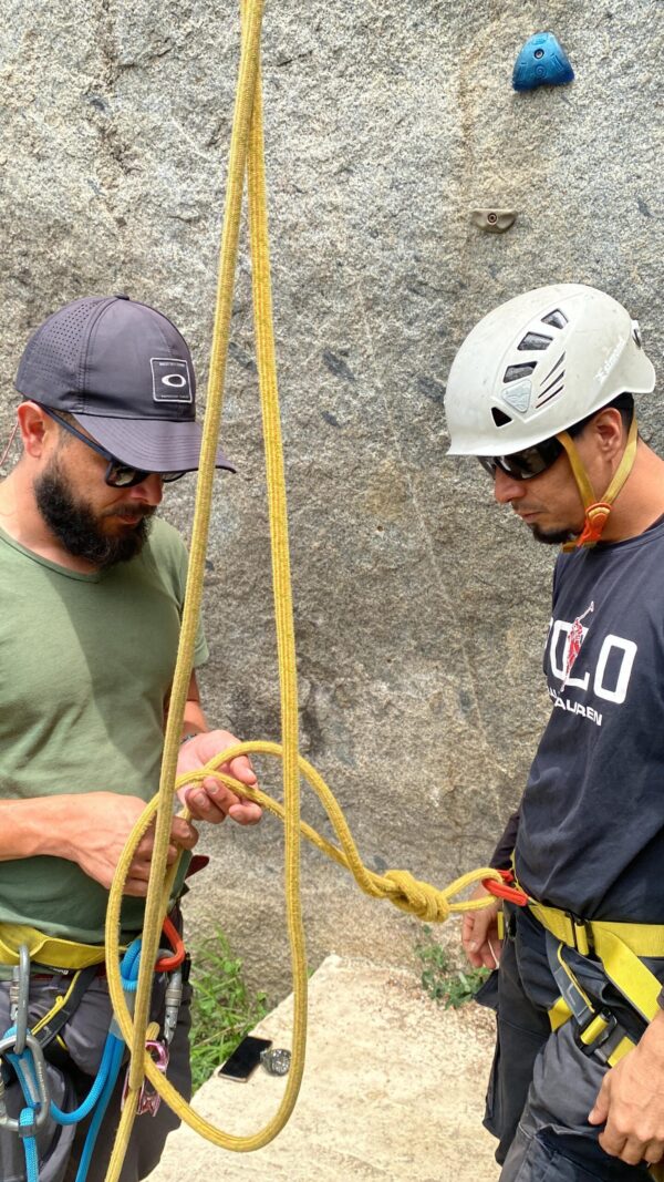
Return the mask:
<svg viewBox="0 0 664 1182">
<path fill-rule="evenodd" d="M 66 300 L 124 291 L 188 337 L 204 389 L 239 32 L 235 5 L 4 0 L 0 371 Z M 516 95 L 549 28 L 575 82 Z M 447 461 L 456 346 L 554 280 L 610 291 L 662 369 L 662 5 L 311 0 L 267 5 L 274 301 L 305 754 L 366 862 L 443 884 L 483 862 L 547 715 L 553 552 L 469 461 Z M 504 234 L 474 209 L 516 210 Z M 210 719 L 278 738 L 269 552 L 246 245 L 233 320 L 202 673 Z M 642 420 L 662 444 L 657 400 Z M 190 526 L 193 478 L 164 514 Z M 262 767 L 266 788 L 279 769 Z M 321 819 L 320 808 L 304 805 Z M 321 821 L 325 827 L 325 821 Z M 253 976 L 287 983 L 282 839 L 207 836 L 189 907 Z M 405 962 L 416 924 L 305 853 L 310 961 Z"/>
</svg>

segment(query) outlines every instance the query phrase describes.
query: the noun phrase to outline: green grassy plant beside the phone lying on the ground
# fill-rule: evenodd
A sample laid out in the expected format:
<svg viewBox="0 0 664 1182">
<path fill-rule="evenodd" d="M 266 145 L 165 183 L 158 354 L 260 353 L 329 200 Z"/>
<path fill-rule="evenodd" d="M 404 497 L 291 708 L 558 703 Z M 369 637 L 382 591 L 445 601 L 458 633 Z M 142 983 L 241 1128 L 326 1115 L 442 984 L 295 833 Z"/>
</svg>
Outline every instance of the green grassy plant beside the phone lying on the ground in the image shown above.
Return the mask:
<svg viewBox="0 0 664 1182">
<path fill-rule="evenodd" d="M 267 1013 L 267 995 L 247 988 L 242 967 L 222 931 L 217 930 L 214 939 L 194 949 L 190 1037 L 194 1089 L 209 1079 Z"/>
</svg>

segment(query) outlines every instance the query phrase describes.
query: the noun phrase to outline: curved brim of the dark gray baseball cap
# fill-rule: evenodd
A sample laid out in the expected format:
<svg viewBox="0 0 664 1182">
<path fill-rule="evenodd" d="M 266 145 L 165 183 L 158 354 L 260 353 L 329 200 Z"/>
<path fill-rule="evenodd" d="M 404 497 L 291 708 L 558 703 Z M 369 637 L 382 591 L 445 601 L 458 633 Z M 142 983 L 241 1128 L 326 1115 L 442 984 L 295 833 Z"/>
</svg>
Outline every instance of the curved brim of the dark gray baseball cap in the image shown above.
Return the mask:
<svg viewBox="0 0 664 1182">
<path fill-rule="evenodd" d="M 198 423 L 164 418 L 110 418 L 103 415 L 73 416 L 97 443 L 123 463 L 144 472 L 197 472 L 203 433 Z M 216 468 L 235 472 L 222 452 Z"/>
</svg>

